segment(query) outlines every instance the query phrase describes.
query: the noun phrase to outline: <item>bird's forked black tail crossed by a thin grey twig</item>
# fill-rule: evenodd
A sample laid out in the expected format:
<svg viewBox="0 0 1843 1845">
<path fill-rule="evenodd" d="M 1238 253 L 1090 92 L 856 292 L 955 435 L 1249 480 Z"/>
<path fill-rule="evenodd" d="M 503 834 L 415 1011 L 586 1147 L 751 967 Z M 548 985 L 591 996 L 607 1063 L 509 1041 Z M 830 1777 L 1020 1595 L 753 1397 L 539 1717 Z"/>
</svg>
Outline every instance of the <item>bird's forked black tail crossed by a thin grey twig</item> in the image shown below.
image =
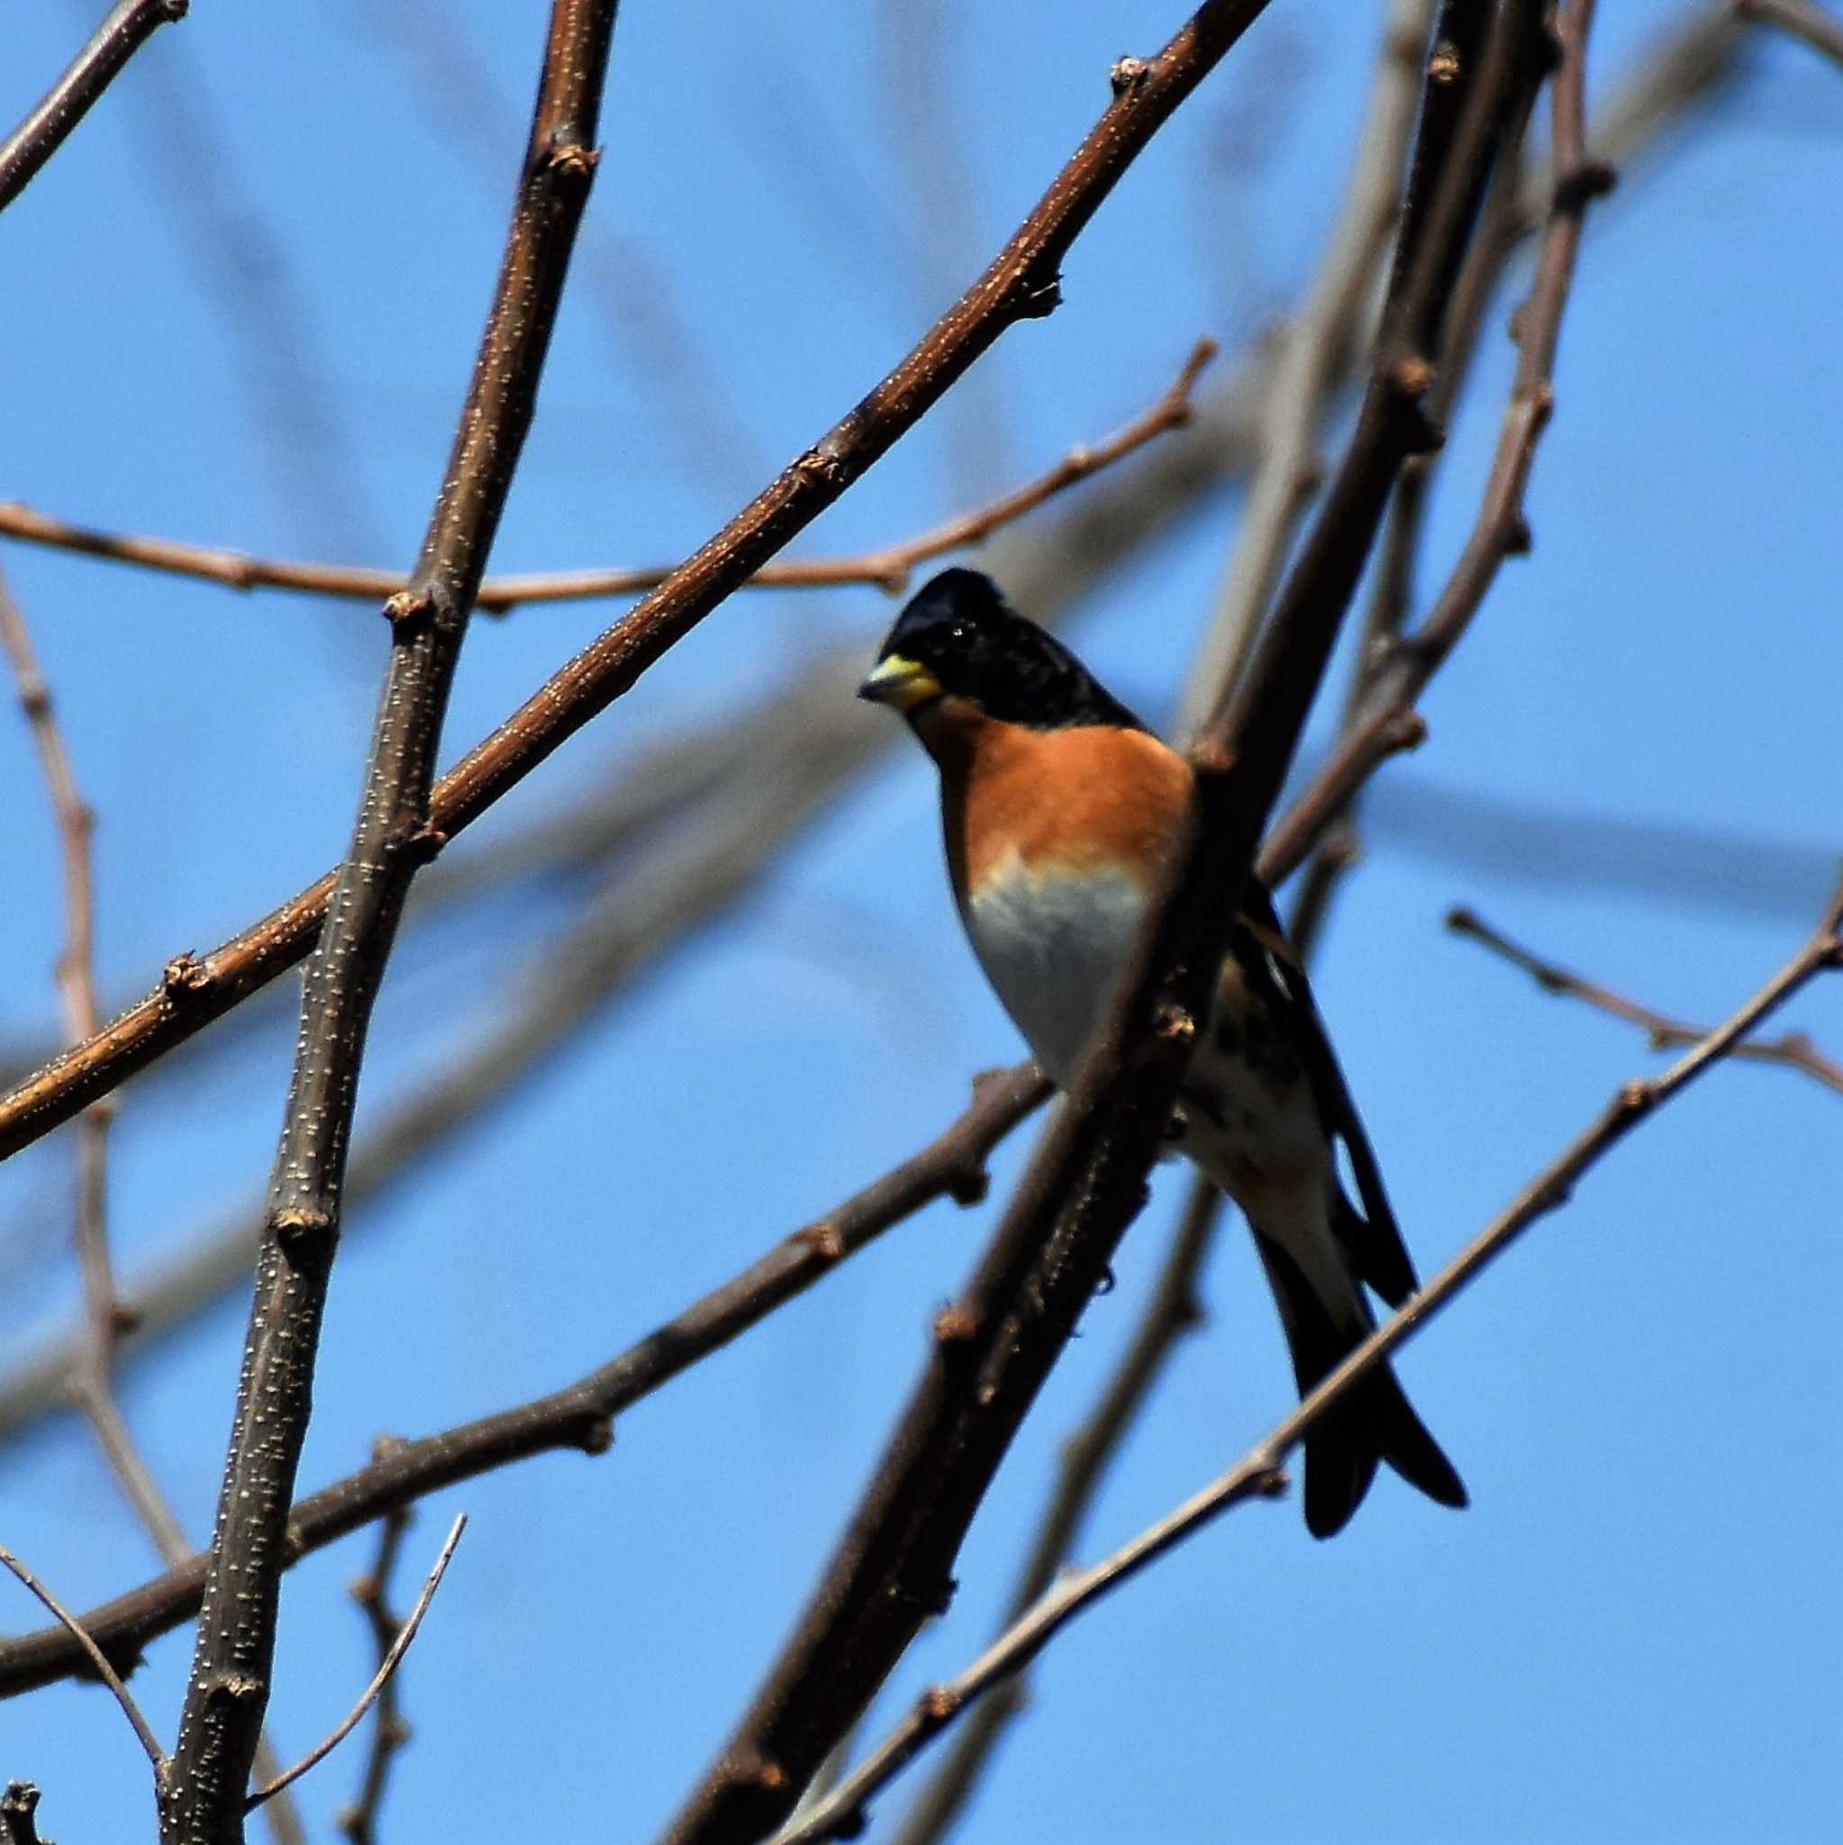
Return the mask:
<svg viewBox="0 0 1843 1845">
<path fill-rule="evenodd" d="M 1293 1354 L 1293 1376 L 1304 1397 L 1363 1343 L 1374 1319 L 1352 1277 L 1350 1301 L 1334 1312 L 1299 1264 L 1254 1231 L 1273 1299 Z M 1387 1461 L 1409 1485 L 1441 1506 L 1465 1506 L 1465 1483 L 1397 1382 L 1382 1365 L 1306 1435 L 1306 1530 L 1332 1537 L 1363 1502 L 1376 1463 Z"/>
</svg>

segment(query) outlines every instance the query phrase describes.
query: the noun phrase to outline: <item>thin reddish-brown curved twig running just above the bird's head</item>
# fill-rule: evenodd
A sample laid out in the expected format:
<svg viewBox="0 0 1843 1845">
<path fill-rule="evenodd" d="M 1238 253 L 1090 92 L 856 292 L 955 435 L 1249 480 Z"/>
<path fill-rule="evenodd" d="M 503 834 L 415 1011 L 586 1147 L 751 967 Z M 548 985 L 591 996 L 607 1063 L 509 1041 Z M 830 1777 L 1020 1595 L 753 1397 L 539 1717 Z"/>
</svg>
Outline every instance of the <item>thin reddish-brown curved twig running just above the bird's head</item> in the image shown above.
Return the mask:
<svg viewBox="0 0 1843 1845">
<path fill-rule="evenodd" d="M 946 552 L 980 544 L 1002 526 L 1035 511 L 1046 500 L 1064 493 L 1077 482 L 1112 467 L 1142 448 L 1166 430 L 1190 421 L 1192 393 L 1203 367 L 1216 354 L 1214 339 L 1199 339 L 1183 371 L 1149 410 L 1098 443 L 1070 448 L 1052 469 L 1013 487 L 989 506 L 959 513 L 945 524 L 930 526 L 910 539 L 886 544 L 882 550 L 860 552 L 854 557 L 812 557 L 762 565 L 742 589 L 819 589 L 832 585 L 863 585 L 902 590 L 917 565 Z M 114 563 L 142 565 L 151 570 L 172 570 L 179 576 L 205 577 L 227 589 L 291 589 L 317 596 L 349 596 L 376 600 L 404 589 L 404 577 L 391 570 L 367 570 L 360 565 L 314 565 L 282 559 L 245 557 L 242 552 L 216 550 L 205 544 L 179 544 L 172 539 L 137 539 L 113 531 L 94 531 L 50 518 L 30 506 L 0 502 L 0 537 L 28 539 L 57 550 L 79 552 L 89 557 L 107 557 Z M 592 596 L 625 596 L 635 590 L 657 589 L 672 576 L 670 565 L 633 570 L 546 570 L 526 576 L 485 577 L 476 605 L 504 614 L 526 601 L 577 601 Z"/>
</svg>

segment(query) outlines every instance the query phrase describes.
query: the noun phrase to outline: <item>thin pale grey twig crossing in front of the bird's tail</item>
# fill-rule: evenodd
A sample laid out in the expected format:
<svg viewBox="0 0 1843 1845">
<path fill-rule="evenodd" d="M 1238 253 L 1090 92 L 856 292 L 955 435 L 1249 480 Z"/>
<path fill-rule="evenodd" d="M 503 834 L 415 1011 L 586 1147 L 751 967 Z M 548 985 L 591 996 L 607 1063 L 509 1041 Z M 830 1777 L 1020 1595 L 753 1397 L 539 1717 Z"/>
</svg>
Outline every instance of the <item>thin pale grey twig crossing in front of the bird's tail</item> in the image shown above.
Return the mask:
<svg viewBox="0 0 1843 1845">
<path fill-rule="evenodd" d="M 863 1821 L 863 1803 L 895 1777 L 926 1744 L 993 1686 L 1013 1679 L 1083 1609 L 1118 1589 L 1175 1544 L 1203 1530 L 1231 1506 L 1269 1498 L 1284 1489 L 1286 1456 L 1304 1441 L 1336 1406 L 1406 1345 L 1443 1306 L 1487 1269 L 1539 1218 L 1561 1208 L 1574 1186 L 1620 1140 L 1706 1068 L 1729 1055 L 1734 1044 L 1821 969 L 1843 965 L 1843 886 L 1832 899 L 1823 924 L 1745 1006 L 1710 1031 L 1686 1057 L 1651 1081 L 1627 1083 L 1599 1118 L 1516 1201 L 1489 1223 L 1408 1304 L 1373 1332 L 1290 1415 L 1269 1430 L 1229 1472 L 1195 1493 L 1175 1511 L 1149 1526 L 1129 1544 L 1092 1568 L 1066 1576 L 1000 1635 L 965 1672 L 924 1692 L 915 1710 L 871 1751 L 869 1756 L 797 1827 L 779 1832 L 773 1845 L 817 1845 L 854 1832 Z"/>
</svg>

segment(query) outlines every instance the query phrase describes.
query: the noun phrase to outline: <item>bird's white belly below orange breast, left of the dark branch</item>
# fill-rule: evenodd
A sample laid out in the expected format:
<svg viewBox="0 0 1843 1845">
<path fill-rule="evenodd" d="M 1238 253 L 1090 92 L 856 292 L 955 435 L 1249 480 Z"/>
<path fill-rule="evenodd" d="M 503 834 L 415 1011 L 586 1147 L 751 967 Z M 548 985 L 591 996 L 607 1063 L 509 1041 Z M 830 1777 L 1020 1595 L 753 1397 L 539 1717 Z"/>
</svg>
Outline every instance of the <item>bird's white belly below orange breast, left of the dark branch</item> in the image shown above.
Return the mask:
<svg viewBox="0 0 1843 1845">
<path fill-rule="evenodd" d="M 967 902 L 985 978 L 1059 1089 L 1076 1074 L 1144 910 L 1146 893 L 1125 873 L 1031 875 L 1018 860 Z"/>
</svg>

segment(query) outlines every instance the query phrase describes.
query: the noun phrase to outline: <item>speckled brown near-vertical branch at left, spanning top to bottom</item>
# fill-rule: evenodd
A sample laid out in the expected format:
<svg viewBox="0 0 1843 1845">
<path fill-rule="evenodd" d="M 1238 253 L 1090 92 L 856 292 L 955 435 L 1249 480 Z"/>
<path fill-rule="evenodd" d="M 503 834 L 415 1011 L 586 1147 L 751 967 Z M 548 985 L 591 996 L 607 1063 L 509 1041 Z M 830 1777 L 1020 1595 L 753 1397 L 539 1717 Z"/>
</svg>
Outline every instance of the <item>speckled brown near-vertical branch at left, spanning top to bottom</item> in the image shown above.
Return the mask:
<svg viewBox="0 0 1843 1845">
<path fill-rule="evenodd" d="M 303 987 L 197 1642 L 161 1797 L 162 1845 L 242 1838 L 365 1031 L 404 897 L 443 843 L 428 795 L 448 688 L 594 177 L 614 11 L 616 0 L 553 0 L 511 229 L 454 448 L 410 587 L 386 605 L 389 668 L 352 843 Z"/>
</svg>

